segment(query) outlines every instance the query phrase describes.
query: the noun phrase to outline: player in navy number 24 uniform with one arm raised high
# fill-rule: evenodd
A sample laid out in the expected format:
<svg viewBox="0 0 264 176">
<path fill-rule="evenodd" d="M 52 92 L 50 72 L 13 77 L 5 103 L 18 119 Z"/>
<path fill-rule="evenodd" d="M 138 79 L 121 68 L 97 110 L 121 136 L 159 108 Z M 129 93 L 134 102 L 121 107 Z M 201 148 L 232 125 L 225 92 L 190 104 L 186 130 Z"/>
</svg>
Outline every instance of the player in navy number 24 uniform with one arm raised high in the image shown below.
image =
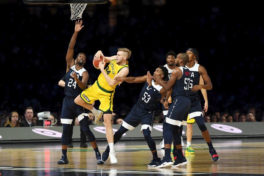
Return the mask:
<svg viewBox="0 0 264 176">
<path fill-rule="evenodd" d="M 60 121 L 63 126 L 62 132 L 62 158 L 58 161 L 58 164 L 68 164 L 67 158 L 67 147 L 69 141 L 69 131 L 70 125 L 74 117 L 77 117 L 80 123 L 80 126 L 84 133 L 86 134 L 90 144 L 95 150 L 97 164 L 103 164 L 101 160 L 101 154 L 98 150 L 95 136 L 89 128 L 89 115 L 88 110 L 84 109 L 82 106 L 74 103 L 74 99 L 84 90 L 87 86 L 87 80 L 89 78 L 88 72 L 83 68 L 83 65 L 86 61 L 86 56 L 84 53 L 79 53 L 77 58 L 73 58 L 73 48 L 76 42 L 78 32 L 81 31 L 82 20 L 75 22 L 74 34 L 70 40 L 68 51 L 66 55 L 66 78 L 65 78 L 65 98 L 63 99 L 62 113 Z M 76 63 L 75 63 L 76 61 Z"/>
</svg>

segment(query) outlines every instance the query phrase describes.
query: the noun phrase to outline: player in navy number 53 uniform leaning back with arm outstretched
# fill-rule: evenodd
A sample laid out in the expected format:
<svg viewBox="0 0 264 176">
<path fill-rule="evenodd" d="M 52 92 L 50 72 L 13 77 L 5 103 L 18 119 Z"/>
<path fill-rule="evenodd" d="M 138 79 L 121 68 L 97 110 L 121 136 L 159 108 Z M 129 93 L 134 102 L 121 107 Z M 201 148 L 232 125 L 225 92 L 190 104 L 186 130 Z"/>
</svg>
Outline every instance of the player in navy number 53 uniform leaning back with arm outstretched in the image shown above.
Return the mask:
<svg viewBox="0 0 264 176">
<path fill-rule="evenodd" d="M 154 75 L 162 79 L 168 77 L 168 70 L 160 65 L 154 72 Z M 148 72 L 143 77 L 116 77 L 114 80 L 126 81 L 128 83 L 142 83 L 146 82 L 142 88 L 137 103 L 133 106 L 132 110 L 126 116 L 119 130 L 115 132 L 114 144 L 119 141 L 122 135 L 128 130 L 133 130 L 140 123 L 142 124 L 140 132 L 143 133 L 145 140 L 148 143 L 149 149 L 152 152 L 153 160 L 148 164 L 148 167 L 154 167 L 161 162 L 158 158 L 155 141 L 150 136 L 153 127 L 153 117 L 159 100 L 166 95 L 167 91 L 163 89 L 157 82 L 152 79 L 151 74 Z M 102 160 L 106 161 L 109 156 L 110 148 L 107 146 L 102 154 Z"/>
</svg>

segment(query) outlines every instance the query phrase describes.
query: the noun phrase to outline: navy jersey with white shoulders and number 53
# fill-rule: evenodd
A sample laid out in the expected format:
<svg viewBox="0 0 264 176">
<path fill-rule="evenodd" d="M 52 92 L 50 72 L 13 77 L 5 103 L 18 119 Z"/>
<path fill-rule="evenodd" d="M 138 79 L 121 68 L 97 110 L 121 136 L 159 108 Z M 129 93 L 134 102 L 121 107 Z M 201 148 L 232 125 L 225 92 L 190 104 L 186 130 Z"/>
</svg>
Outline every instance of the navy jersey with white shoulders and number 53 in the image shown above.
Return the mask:
<svg viewBox="0 0 264 176">
<path fill-rule="evenodd" d="M 154 80 L 152 80 L 152 86 L 149 86 L 148 82 L 146 82 L 139 94 L 136 104 L 145 110 L 155 111 L 159 100 L 155 101 L 154 94 L 158 93 L 161 88 L 160 85 L 154 84 Z"/>
</svg>

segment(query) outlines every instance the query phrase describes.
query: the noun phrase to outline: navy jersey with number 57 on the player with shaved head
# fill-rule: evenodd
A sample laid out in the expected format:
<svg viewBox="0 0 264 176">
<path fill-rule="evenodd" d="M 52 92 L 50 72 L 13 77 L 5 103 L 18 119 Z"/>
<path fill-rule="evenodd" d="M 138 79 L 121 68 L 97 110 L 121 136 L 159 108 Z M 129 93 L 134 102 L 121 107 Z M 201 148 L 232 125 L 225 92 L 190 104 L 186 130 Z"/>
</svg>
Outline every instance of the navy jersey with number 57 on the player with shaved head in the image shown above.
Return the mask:
<svg viewBox="0 0 264 176">
<path fill-rule="evenodd" d="M 174 97 L 185 96 L 189 98 L 190 97 L 189 89 L 191 89 L 190 82 L 192 82 L 190 77 L 190 70 L 182 66 L 179 68 L 182 70 L 182 77 L 176 80 L 175 84 L 172 87 L 172 92 L 174 93 Z"/>
</svg>

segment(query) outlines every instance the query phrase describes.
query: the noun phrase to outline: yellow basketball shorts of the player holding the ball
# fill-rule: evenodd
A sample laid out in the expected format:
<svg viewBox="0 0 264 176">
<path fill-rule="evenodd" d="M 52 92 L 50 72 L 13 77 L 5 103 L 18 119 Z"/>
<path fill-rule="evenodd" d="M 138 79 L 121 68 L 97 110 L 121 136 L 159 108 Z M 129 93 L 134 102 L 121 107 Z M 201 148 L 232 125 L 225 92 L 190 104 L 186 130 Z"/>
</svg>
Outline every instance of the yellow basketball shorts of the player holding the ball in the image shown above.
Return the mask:
<svg viewBox="0 0 264 176">
<path fill-rule="evenodd" d="M 100 101 L 99 110 L 103 112 L 113 111 L 113 98 L 115 91 L 107 91 L 103 89 L 98 82 L 91 87 L 85 89 L 81 93 L 81 98 L 88 104 L 93 104 L 95 100 Z"/>
</svg>

